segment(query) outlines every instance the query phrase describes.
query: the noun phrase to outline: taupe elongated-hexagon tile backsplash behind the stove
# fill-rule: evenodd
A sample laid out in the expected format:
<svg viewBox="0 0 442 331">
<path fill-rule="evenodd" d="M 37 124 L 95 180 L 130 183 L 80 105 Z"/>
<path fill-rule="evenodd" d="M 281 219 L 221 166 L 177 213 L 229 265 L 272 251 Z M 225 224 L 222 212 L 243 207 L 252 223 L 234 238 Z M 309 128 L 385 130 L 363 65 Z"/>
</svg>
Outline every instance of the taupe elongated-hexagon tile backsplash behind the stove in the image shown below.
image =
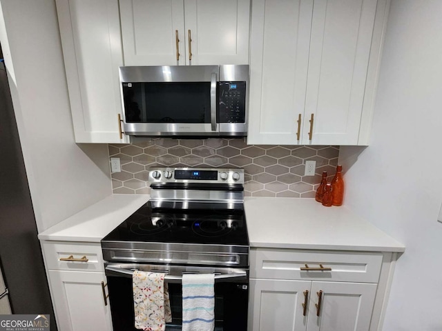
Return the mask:
<svg viewBox="0 0 442 331">
<path fill-rule="evenodd" d="M 157 166 L 243 168 L 246 197 L 313 198 L 323 171 L 329 180 L 338 164 L 338 146 L 247 145 L 244 139 L 155 138 L 109 144 L 122 172 L 113 172 L 116 194 L 149 194 L 148 169 Z M 305 161 L 316 161 L 315 176 L 304 176 Z M 110 160 L 109 160 L 110 162 Z"/>
</svg>

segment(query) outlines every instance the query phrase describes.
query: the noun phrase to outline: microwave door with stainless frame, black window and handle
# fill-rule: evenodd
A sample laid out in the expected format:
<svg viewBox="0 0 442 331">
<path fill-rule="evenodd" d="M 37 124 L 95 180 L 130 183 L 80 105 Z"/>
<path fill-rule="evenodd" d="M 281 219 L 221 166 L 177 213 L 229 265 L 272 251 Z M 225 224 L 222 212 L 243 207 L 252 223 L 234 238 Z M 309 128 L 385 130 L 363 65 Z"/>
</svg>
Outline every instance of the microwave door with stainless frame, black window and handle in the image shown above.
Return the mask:
<svg viewBox="0 0 442 331">
<path fill-rule="evenodd" d="M 218 135 L 218 66 L 122 67 L 124 132 Z"/>
</svg>

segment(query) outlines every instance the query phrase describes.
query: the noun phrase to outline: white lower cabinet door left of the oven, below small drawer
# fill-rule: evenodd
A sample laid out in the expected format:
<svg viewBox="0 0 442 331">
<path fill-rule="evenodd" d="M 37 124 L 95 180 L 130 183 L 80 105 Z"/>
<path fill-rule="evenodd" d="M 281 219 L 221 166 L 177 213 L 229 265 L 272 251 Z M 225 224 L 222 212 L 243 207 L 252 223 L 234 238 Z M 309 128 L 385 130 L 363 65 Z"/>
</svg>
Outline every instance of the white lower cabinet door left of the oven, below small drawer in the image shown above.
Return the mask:
<svg viewBox="0 0 442 331">
<path fill-rule="evenodd" d="M 59 331 L 112 330 L 104 272 L 49 270 L 49 279 Z"/>
</svg>

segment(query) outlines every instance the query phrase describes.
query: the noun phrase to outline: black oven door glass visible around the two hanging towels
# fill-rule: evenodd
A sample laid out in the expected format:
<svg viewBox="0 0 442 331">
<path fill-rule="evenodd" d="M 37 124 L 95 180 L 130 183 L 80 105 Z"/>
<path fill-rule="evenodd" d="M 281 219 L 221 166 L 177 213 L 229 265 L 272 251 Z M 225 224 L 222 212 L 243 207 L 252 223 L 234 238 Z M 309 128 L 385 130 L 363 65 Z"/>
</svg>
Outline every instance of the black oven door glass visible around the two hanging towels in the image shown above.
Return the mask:
<svg viewBox="0 0 442 331">
<path fill-rule="evenodd" d="M 108 277 L 114 331 L 135 331 L 132 279 Z M 172 323 L 166 331 L 182 330 L 182 285 L 169 283 Z M 248 283 L 215 283 L 215 331 L 247 331 Z"/>
</svg>

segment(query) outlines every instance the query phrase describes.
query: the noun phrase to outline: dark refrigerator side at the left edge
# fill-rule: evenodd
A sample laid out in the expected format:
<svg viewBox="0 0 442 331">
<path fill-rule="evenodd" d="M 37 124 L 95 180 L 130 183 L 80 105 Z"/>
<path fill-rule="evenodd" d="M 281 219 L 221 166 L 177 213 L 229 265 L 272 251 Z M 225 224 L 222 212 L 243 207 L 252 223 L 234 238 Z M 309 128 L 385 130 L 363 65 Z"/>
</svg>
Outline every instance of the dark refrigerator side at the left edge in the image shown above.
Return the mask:
<svg viewBox="0 0 442 331">
<path fill-rule="evenodd" d="M 50 314 L 50 330 L 57 330 L 3 61 L 0 63 L 0 160 L 0 261 L 8 288 L 5 292 L 0 281 L 0 297 L 3 297 L 0 305 L 4 304 L 4 313 L 10 308 L 13 314 Z"/>
</svg>

